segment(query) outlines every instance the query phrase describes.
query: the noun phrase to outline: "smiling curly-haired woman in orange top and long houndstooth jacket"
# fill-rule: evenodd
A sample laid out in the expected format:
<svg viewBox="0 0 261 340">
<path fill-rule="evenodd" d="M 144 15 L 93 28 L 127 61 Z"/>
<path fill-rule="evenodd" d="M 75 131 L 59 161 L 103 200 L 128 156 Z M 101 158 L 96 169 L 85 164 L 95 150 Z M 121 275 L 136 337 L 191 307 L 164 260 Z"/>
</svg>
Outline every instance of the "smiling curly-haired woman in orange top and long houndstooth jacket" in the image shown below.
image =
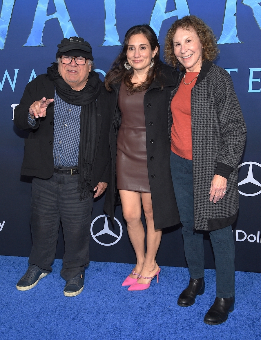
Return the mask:
<svg viewBox="0 0 261 340">
<path fill-rule="evenodd" d="M 189 285 L 178 305 L 191 306 L 205 291 L 203 232 L 215 256 L 216 298 L 204 322 L 220 324 L 234 308 L 234 240 L 239 208 L 238 164 L 246 127 L 230 75 L 212 61 L 218 54 L 212 30 L 199 18 L 173 23 L 165 59 L 178 67 L 169 105 L 170 167 L 183 224 Z"/>
</svg>

